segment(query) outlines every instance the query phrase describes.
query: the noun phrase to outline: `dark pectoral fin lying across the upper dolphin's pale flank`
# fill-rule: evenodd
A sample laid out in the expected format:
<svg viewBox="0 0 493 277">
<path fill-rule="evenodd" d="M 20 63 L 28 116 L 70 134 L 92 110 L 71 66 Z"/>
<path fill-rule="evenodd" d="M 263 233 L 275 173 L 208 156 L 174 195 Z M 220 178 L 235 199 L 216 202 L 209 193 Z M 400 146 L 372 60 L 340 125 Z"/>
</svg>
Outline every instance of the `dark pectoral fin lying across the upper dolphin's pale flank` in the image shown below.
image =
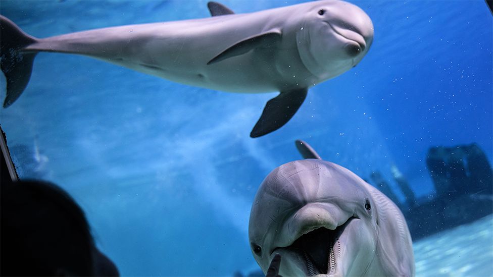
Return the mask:
<svg viewBox="0 0 493 277">
<path fill-rule="evenodd" d="M 226 50 L 222 51 L 210 60 L 207 64 L 215 64 L 231 57 L 247 53 L 255 48 L 268 48 L 269 46 L 276 44 L 280 38 L 281 31 L 279 30 L 269 31 L 260 35 L 249 37 L 228 47 Z"/>
</svg>

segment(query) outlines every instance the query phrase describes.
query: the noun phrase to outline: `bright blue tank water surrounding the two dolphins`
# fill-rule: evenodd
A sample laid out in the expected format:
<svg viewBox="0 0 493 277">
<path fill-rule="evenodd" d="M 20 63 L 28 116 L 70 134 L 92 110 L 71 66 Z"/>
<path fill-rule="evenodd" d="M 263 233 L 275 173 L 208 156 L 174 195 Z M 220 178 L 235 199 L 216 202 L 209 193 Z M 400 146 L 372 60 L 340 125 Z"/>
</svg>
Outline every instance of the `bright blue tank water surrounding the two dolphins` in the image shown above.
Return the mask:
<svg viewBox="0 0 493 277">
<path fill-rule="evenodd" d="M 247 13 L 301 2 L 222 3 Z M 90 58 L 38 54 L 23 95 L 0 110 L 9 146 L 18 149 L 14 160 L 24 164 L 20 177 L 51 180 L 71 193 L 123 275 L 212 276 L 257 268 L 248 245 L 250 206 L 272 169 L 301 158 L 295 139 L 363 178 L 378 170 L 389 179 L 395 164 L 421 198 L 434 197 L 429 147 L 476 142 L 491 162 L 493 17 L 484 1 L 351 2 L 373 20 L 367 56 L 311 88 L 286 126 L 258 139 L 249 133 L 275 93 L 225 93 Z M 2 1 L 0 12 L 47 37 L 208 17 L 206 4 Z M 3 76 L 0 85 L 3 99 Z M 468 232 L 416 242 L 418 275 L 493 275 L 484 222 L 491 230 L 489 217 Z M 474 231 L 483 240 L 461 239 Z M 432 250 L 448 253 L 449 245 L 439 244 L 444 236 L 456 238 L 452 256 L 433 260 Z M 464 255 L 454 256 L 454 247 L 464 240 L 482 246 L 483 255 L 455 268 Z M 451 268 L 438 265 L 446 261 Z"/>
</svg>

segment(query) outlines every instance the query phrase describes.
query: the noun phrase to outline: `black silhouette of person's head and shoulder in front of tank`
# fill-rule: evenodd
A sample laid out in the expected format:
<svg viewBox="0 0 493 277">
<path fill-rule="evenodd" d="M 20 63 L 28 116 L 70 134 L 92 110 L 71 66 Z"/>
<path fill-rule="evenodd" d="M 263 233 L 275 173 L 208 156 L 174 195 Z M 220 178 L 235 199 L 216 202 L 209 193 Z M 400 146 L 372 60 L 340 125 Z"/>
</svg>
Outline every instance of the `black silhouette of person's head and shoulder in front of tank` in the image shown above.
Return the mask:
<svg viewBox="0 0 493 277">
<path fill-rule="evenodd" d="M 56 185 L 4 183 L 0 205 L 2 275 L 118 275 L 95 247 L 81 208 Z"/>
</svg>

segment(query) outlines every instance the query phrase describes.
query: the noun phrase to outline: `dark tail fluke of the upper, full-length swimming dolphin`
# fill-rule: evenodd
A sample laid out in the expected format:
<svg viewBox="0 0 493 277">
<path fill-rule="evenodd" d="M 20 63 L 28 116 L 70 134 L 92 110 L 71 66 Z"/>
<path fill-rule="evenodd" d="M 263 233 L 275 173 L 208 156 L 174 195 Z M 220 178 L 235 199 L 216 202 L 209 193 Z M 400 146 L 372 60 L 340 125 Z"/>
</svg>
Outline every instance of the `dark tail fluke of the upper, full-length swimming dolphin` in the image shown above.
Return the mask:
<svg viewBox="0 0 493 277">
<path fill-rule="evenodd" d="M 36 42 L 10 19 L 0 16 L 0 68 L 7 80 L 4 107 L 10 106 L 24 91 L 31 78 L 32 64 L 37 52 L 22 49 Z"/>
</svg>

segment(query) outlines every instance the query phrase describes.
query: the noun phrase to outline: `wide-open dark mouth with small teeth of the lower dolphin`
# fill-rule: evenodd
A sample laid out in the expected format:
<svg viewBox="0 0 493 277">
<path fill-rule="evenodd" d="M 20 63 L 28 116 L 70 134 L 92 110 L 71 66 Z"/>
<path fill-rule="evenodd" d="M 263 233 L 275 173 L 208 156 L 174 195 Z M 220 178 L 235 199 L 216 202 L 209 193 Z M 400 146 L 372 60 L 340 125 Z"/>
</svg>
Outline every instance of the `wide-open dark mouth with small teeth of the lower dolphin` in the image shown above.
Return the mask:
<svg viewBox="0 0 493 277">
<path fill-rule="evenodd" d="M 306 263 L 308 276 L 318 274 L 334 274 L 337 265 L 337 257 L 341 252 L 339 237 L 349 223 L 357 217 L 350 217 L 344 224 L 334 230 L 325 227 L 317 228 L 306 233 L 287 247 L 278 247 L 293 252 Z M 276 249 L 274 249 L 276 250 Z"/>
</svg>

